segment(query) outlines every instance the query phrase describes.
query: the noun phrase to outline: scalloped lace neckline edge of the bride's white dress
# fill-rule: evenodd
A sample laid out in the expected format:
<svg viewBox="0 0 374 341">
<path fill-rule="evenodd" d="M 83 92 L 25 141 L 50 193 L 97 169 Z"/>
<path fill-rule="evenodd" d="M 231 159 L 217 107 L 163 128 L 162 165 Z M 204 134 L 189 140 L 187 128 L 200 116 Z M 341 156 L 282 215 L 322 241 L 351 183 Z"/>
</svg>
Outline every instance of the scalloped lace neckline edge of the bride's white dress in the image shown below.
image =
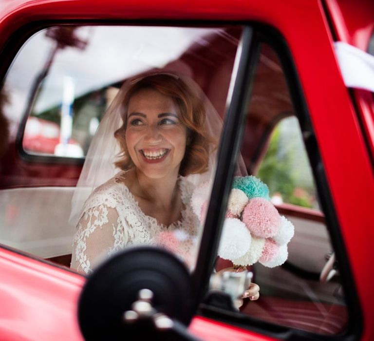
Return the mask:
<svg viewBox="0 0 374 341">
<path fill-rule="evenodd" d="M 177 228 L 182 227 L 182 223 L 185 220 L 185 216 L 186 216 L 186 212 L 187 212 L 187 202 L 186 202 L 186 196 L 185 196 L 185 193 L 184 193 L 184 188 L 183 188 L 184 186 L 183 186 L 183 183 L 182 183 L 182 181 L 183 181 L 182 177 L 179 176 L 178 180 L 177 180 L 179 190 L 181 192 L 182 203 L 183 203 L 183 209 L 181 210 L 181 217 L 178 220 L 171 223 L 170 225 L 165 225 L 165 224 L 160 223 L 155 217 L 152 217 L 152 216 L 144 213 L 144 211 L 140 208 L 138 201 L 135 199 L 135 197 L 131 193 L 130 189 L 125 185 L 125 183 L 121 179 L 121 176 L 124 175 L 125 173 L 126 173 L 126 171 L 122 171 L 122 172 L 118 173 L 117 175 L 115 175 L 113 179 L 117 184 L 123 186 L 123 188 L 126 191 L 126 194 L 128 194 L 128 198 L 129 198 L 131 204 L 133 204 L 135 206 L 135 208 L 137 209 L 137 213 L 140 214 L 141 218 L 149 221 L 151 225 L 157 225 L 160 228 L 165 229 L 165 230 L 172 230 L 172 229 L 177 229 Z"/>
</svg>

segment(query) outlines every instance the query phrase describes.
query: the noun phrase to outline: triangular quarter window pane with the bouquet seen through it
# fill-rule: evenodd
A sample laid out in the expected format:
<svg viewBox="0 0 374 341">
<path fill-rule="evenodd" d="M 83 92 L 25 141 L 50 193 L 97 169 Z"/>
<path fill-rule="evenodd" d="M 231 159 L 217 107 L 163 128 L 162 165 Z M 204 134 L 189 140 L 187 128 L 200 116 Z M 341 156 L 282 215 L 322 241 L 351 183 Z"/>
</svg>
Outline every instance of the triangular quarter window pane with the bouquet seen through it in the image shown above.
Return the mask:
<svg viewBox="0 0 374 341">
<path fill-rule="evenodd" d="M 242 156 L 248 174 L 256 177 L 234 178 L 216 270 L 231 265 L 253 272 L 260 298 L 240 294 L 235 306 L 242 314 L 340 334 L 348 314 L 339 274 L 325 266 L 333 247 L 285 75 L 267 44 L 261 46 L 252 86 Z M 248 231 L 250 242 L 243 245 Z"/>
</svg>

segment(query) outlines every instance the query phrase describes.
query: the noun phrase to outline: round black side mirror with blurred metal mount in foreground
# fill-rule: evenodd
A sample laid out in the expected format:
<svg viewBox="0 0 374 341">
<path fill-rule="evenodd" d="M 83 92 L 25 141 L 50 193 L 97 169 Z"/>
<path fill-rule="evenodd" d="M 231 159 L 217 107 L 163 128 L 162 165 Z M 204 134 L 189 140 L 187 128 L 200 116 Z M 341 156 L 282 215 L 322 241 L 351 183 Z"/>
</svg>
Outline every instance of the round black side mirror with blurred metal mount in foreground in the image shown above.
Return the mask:
<svg viewBox="0 0 374 341">
<path fill-rule="evenodd" d="M 187 331 L 195 312 L 186 266 L 166 250 L 128 248 L 89 276 L 78 319 L 90 340 L 197 340 Z"/>
</svg>

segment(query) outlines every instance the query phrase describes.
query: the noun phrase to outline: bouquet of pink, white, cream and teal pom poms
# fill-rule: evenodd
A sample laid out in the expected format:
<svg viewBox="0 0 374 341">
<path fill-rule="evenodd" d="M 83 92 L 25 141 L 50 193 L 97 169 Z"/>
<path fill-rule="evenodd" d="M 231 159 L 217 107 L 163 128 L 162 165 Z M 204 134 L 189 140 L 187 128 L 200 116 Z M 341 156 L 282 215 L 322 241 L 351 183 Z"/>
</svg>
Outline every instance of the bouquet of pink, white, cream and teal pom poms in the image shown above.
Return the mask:
<svg viewBox="0 0 374 341">
<path fill-rule="evenodd" d="M 198 186 L 191 198 L 191 206 L 202 224 L 208 218 L 207 189 L 206 183 Z M 275 267 L 286 261 L 287 244 L 293 235 L 293 224 L 278 213 L 270 202 L 268 187 L 260 179 L 234 179 L 218 249 L 221 258 L 238 266 L 260 262 Z"/>
</svg>

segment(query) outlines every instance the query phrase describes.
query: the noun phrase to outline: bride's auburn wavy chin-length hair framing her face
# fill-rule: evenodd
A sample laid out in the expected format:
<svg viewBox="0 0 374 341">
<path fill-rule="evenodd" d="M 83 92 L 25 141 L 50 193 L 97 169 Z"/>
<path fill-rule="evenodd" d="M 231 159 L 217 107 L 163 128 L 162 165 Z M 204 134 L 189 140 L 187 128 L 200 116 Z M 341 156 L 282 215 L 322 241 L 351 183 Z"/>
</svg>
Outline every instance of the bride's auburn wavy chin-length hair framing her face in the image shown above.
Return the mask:
<svg viewBox="0 0 374 341">
<path fill-rule="evenodd" d="M 214 139 L 206 132 L 206 111 L 201 98 L 194 94 L 180 77 L 172 74 L 145 76 L 133 82 L 122 104 L 123 125 L 114 133 L 114 137 L 121 147 L 120 159 L 115 162 L 115 166 L 122 170 L 134 167 L 126 145 L 129 102 L 131 97 L 140 90 L 154 89 L 173 100 L 179 120 L 187 127 L 186 152 L 179 168 L 179 174 L 187 176 L 188 174 L 204 173 L 208 167 L 209 151 L 211 145 L 214 145 Z"/>
</svg>

